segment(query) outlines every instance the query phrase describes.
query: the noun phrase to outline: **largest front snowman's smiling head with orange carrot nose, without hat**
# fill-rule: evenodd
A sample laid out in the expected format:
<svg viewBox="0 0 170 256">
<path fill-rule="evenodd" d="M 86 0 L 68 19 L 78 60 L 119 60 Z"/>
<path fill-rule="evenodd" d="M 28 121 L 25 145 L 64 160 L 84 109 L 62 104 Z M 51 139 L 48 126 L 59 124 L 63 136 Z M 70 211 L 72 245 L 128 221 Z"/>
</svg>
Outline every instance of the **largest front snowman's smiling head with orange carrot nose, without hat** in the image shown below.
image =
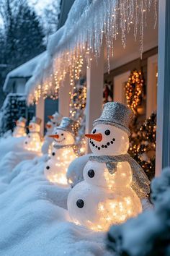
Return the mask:
<svg viewBox="0 0 170 256">
<path fill-rule="evenodd" d="M 86 137 L 95 155 L 121 155 L 128 152 L 128 133 L 113 125 L 97 124 Z"/>
</svg>

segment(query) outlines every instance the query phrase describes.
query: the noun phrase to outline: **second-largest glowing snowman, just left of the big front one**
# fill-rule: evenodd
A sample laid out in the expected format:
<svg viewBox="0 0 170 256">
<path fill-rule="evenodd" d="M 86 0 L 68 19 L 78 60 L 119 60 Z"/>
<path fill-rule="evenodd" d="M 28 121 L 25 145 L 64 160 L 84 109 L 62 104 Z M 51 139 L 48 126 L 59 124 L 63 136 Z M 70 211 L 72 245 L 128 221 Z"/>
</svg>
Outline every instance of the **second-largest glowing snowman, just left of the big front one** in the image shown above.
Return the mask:
<svg viewBox="0 0 170 256">
<path fill-rule="evenodd" d="M 75 136 L 79 124 L 68 117 L 63 117 L 60 126 L 55 127 L 53 137 L 55 144 L 50 160 L 45 165 L 45 176 L 54 184 L 67 184 L 66 172 L 69 164 L 76 158 Z"/>
</svg>

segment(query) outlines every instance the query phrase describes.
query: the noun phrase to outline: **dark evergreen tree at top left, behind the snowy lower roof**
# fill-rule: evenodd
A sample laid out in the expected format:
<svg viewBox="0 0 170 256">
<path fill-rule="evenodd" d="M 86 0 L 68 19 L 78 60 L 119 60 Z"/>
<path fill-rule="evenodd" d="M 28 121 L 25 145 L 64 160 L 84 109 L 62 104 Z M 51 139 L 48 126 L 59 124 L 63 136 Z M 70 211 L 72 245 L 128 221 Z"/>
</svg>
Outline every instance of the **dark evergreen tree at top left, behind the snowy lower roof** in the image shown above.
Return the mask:
<svg viewBox="0 0 170 256">
<path fill-rule="evenodd" d="M 1 0 L 0 14 L 4 22 L 4 61 L 9 64 L 9 72 L 45 51 L 44 34 L 40 18 L 27 0 Z"/>
</svg>

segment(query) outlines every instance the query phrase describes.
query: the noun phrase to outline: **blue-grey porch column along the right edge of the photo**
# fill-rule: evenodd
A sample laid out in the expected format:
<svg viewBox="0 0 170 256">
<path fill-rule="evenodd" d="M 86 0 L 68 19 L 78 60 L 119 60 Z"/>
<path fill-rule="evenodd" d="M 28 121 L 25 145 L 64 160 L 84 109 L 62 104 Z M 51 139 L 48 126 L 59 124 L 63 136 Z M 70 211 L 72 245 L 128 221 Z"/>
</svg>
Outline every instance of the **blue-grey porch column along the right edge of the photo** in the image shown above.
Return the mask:
<svg viewBox="0 0 170 256">
<path fill-rule="evenodd" d="M 158 6 L 158 102 L 156 176 L 170 166 L 170 1 Z"/>
</svg>

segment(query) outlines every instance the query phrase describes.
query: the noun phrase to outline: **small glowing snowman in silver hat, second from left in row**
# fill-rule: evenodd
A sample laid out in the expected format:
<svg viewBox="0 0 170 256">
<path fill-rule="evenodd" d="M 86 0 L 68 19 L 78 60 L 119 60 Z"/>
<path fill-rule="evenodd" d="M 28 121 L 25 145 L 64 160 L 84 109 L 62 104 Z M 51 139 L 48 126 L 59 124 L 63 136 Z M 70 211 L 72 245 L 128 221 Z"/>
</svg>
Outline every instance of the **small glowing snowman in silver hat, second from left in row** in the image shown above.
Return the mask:
<svg viewBox="0 0 170 256">
<path fill-rule="evenodd" d="M 33 117 L 28 126 L 29 133 L 24 140 L 24 148 L 26 150 L 40 152 L 42 147 L 42 142 L 40 140 L 40 123 L 41 119 L 39 117 Z"/>
</svg>

